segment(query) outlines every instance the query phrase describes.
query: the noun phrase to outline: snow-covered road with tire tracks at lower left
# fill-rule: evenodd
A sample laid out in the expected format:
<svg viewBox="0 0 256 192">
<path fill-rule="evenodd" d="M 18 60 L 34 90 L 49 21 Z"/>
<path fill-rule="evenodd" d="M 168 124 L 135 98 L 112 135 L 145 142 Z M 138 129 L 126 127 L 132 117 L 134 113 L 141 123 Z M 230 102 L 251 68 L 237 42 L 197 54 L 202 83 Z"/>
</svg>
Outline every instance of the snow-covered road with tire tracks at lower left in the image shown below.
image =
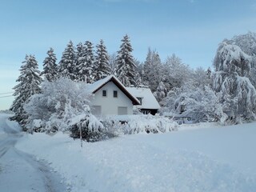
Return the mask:
<svg viewBox="0 0 256 192">
<path fill-rule="evenodd" d="M 65 191 L 60 176 L 46 162 L 15 147 L 22 133 L 9 117 L 0 114 L 0 191 Z"/>
</svg>

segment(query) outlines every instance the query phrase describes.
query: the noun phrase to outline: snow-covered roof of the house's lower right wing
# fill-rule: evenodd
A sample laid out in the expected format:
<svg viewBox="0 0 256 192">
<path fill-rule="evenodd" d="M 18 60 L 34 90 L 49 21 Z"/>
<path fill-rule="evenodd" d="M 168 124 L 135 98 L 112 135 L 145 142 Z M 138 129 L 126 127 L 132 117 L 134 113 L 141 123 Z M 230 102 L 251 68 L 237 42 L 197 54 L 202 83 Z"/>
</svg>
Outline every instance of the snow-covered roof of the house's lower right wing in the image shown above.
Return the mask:
<svg viewBox="0 0 256 192">
<path fill-rule="evenodd" d="M 142 105 L 137 106 L 138 109 L 160 109 L 159 103 L 157 99 L 154 98 L 154 94 L 152 94 L 150 88 L 126 87 L 126 90 L 134 95 L 134 97 L 142 98 Z"/>
</svg>

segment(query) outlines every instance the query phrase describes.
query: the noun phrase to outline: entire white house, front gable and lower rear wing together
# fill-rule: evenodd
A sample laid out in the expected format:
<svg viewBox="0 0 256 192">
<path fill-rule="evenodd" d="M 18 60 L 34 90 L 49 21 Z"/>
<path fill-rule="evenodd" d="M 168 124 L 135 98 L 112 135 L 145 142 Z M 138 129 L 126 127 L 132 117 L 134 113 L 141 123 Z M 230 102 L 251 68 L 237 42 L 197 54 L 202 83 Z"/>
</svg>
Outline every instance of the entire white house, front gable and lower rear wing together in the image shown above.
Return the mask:
<svg viewBox="0 0 256 192">
<path fill-rule="evenodd" d="M 137 107 L 143 114 L 155 114 L 160 108 L 149 88 L 126 87 L 114 75 L 110 75 L 89 87 L 94 98 L 90 101 L 94 115 L 133 114 Z"/>
</svg>

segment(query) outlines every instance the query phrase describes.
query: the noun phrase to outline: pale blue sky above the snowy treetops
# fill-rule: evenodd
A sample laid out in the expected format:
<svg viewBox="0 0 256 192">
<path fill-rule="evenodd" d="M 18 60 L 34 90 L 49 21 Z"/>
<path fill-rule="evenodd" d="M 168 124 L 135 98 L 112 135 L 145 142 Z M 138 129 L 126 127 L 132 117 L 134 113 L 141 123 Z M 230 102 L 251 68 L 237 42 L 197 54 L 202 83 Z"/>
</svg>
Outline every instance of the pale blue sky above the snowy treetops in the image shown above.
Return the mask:
<svg viewBox="0 0 256 192">
<path fill-rule="evenodd" d="M 141 62 L 150 47 L 163 62 L 176 54 L 207 69 L 224 38 L 249 31 L 256 32 L 256 0 L 0 0 L 0 110 L 14 99 L 6 96 L 26 54 L 42 70 L 47 50 L 59 61 L 70 40 L 103 39 L 113 54 L 128 34 Z"/>
</svg>

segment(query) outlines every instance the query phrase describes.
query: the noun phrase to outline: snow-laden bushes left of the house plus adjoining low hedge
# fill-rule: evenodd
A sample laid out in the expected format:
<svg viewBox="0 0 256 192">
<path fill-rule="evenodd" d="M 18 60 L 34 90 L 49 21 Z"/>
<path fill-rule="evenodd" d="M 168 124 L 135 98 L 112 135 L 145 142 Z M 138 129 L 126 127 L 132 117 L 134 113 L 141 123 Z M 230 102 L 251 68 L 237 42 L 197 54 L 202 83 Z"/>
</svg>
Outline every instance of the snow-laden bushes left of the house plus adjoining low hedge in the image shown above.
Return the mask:
<svg viewBox="0 0 256 192">
<path fill-rule="evenodd" d="M 119 134 L 165 133 L 176 130 L 176 122 L 150 114 L 118 115 L 100 122 L 90 114 L 90 96 L 84 82 L 73 82 L 68 78 L 43 82 L 42 94 L 35 94 L 24 106 L 29 114 L 27 129 L 30 132 L 68 130 L 71 137 L 80 138 L 82 135 L 88 142 Z"/>
</svg>

